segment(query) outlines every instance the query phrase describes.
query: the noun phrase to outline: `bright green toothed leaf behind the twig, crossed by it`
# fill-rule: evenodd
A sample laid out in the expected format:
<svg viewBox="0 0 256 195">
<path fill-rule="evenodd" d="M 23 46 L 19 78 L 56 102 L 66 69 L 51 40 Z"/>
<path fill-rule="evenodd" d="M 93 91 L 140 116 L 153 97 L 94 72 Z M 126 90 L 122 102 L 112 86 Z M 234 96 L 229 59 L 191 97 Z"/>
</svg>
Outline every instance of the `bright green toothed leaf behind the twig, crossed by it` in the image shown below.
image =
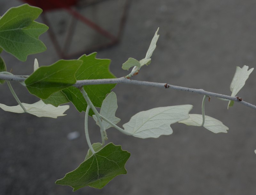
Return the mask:
<svg viewBox="0 0 256 195">
<path fill-rule="evenodd" d="M 79 58 L 83 63 L 75 74 L 76 80 L 116 78 L 109 71 L 110 60 L 97 59 L 96 55 L 97 53 L 95 52 L 90 55 L 82 55 Z M 84 86 L 84 90 L 91 99 L 92 104 L 96 107 L 100 107 L 106 95 L 110 93 L 115 86 L 116 84 L 87 85 Z M 87 103 L 85 100 L 82 101 L 82 99 L 80 99 L 80 97 L 83 96 L 80 91 L 74 94 L 70 93 L 69 95 L 67 90 L 63 91 L 79 112 L 86 111 Z M 92 111 L 89 112 L 90 116 L 92 116 L 92 114 Z"/>
</svg>

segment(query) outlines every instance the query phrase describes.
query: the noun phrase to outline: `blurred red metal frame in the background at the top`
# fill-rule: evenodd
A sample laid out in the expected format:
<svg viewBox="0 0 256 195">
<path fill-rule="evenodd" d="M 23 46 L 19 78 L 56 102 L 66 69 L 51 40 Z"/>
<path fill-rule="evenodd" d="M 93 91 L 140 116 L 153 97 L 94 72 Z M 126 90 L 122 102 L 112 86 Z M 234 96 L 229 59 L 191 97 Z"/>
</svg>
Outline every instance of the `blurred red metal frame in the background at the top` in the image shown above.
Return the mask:
<svg viewBox="0 0 256 195">
<path fill-rule="evenodd" d="M 64 42 L 64 47 L 62 49 L 60 47 L 59 42 L 57 41 L 57 36 L 52 31 L 52 26 L 51 26 L 50 21 L 46 17 L 46 13 L 43 12 L 42 15 L 41 15 L 44 23 L 49 26 L 48 33 L 49 33 L 50 39 L 52 40 L 53 46 L 55 47 L 56 52 L 58 53 L 60 58 L 68 59 L 68 58 L 70 58 L 74 55 L 79 55 L 81 53 L 92 52 L 93 50 L 95 51 L 95 50 L 104 49 L 106 47 L 110 47 L 110 46 L 113 46 L 113 45 L 117 44 L 119 42 L 121 34 L 123 32 L 124 23 L 126 21 L 126 16 L 127 16 L 127 12 L 128 12 L 128 8 L 129 8 L 131 0 L 126 0 L 126 2 L 125 2 L 124 11 L 123 11 L 123 15 L 121 17 L 121 21 L 120 21 L 120 25 L 119 25 L 119 31 L 118 31 L 117 36 L 114 36 L 110 32 L 101 28 L 99 25 L 95 24 L 94 22 L 92 22 L 88 18 L 85 18 L 78 11 L 76 11 L 76 9 L 72 6 L 77 4 L 77 0 L 23 0 L 23 1 L 27 2 L 30 5 L 40 7 L 44 11 L 51 11 L 53 9 L 64 9 L 73 16 L 72 22 L 71 22 L 71 24 L 68 28 L 69 30 L 68 30 L 68 33 L 67 33 L 66 40 Z M 74 29 L 75 29 L 75 25 L 76 25 L 77 20 L 80 20 L 81 22 L 88 25 L 89 27 L 91 27 L 95 31 L 99 32 L 101 35 L 103 35 L 104 37 L 109 39 L 110 42 L 105 43 L 105 44 L 101 44 L 101 45 L 93 47 L 93 48 L 90 48 L 86 51 L 81 51 L 79 53 L 68 54 L 67 51 L 68 51 L 68 48 L 70 46 L 72 36 L 74 34 Z"/>
</svg>

